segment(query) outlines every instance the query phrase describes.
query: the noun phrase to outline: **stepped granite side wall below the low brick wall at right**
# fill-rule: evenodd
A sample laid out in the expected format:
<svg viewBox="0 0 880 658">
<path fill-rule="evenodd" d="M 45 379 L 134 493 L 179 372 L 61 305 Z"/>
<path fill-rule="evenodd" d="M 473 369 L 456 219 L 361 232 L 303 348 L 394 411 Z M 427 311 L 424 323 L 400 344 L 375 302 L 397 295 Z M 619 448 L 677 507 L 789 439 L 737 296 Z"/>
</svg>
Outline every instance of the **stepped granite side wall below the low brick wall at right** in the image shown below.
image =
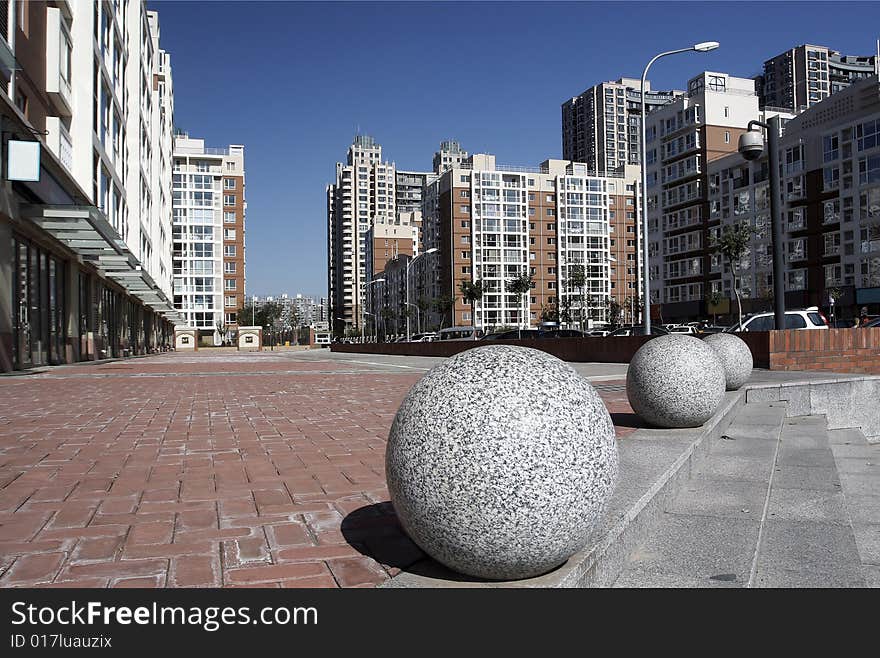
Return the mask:
<svg viewBox="0 0 880 658">
<path fill-rule="evenodd" d="M 746 402 L 788 402 L 789 416 L 825 416 L 828 429 L 859 429 L 880 443 L 880 377 L 841 375 L 810 381 L 752 384 Z"/>
</svg>

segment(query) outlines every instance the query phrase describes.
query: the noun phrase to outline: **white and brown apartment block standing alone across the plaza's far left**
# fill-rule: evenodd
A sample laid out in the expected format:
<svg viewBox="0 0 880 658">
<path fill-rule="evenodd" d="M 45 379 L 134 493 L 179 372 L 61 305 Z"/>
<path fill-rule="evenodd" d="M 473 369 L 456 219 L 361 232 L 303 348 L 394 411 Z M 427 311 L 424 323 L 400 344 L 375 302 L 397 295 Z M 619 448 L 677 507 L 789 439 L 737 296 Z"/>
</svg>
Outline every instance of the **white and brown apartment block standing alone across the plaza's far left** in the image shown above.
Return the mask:
<svg viewBox="0 0 880 658">
<path fill-rule="evenodd" d="M 245 299 L 244 146 L 206 147 L 178 133 L 172 174 L 174 306 L 216 342 Z"/>
</svg>

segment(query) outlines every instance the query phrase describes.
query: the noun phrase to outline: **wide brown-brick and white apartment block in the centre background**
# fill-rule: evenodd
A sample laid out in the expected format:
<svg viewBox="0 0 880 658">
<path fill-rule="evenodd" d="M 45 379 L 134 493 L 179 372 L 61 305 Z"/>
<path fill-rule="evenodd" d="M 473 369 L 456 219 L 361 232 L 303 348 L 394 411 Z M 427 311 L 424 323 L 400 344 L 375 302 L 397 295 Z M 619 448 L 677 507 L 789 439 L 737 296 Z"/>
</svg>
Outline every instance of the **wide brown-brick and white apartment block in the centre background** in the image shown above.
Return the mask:
<svg viewBox="0 0 880 658">
<path fill-rule="evenodd" d="M 625 284 L 629 276 L 635 284 L 634 270 L 627 275 L 612 259 L 611 240 L 616 241 L 619 261 L 631 267 L 635 242 L 617 242 L 610 222 L 613 198 L 621 208 L 615 231 L 634 235 L 626 231 L 624 209 L 634 212 L 635 193 L 635 178 L 597 177 L 583 163 L 547 160 L 539 167 L 507 167 L 497 165 L 493 155 L 469 156 L 425 190 L 424 251 L 409 265 L 408 301 L 432 302 L 424 323 L 428 327 L 475 323 L 486 330 L 525 328 L 554 321 L 560 310 L 580 318 L 581 309 L 585 320 L 604 322 L 612 280 Z M 634 216 L 628 221 L 632 224 Z M 583 290 L 570 282 L 575 265 L 584 268 Z M 612 269 L 617 270 L 614 277 Z M 388 286 L 388 272 L 379 275 L 386 281 L 376 284 L 381 289 L 377 297 L 388 294 L 399 304 L 400 294 L 393 292 L 400 287 L 399 277 L 392 277 Z M 531 275 L 532 290 L 508 292 L 507 282 L 523 273 Z M 483 284 L 475 317 L 459 290 L 465 281 Z M 386 286 L 391 292 L 386 293 Z M 626 290 L 621 285 L 614 294 L 623 301 Z M 443 298 L 455 298 L 449 311 L 436 304 Z M 401 315 L 399 308 L 391 310 Z"/>
</svg>

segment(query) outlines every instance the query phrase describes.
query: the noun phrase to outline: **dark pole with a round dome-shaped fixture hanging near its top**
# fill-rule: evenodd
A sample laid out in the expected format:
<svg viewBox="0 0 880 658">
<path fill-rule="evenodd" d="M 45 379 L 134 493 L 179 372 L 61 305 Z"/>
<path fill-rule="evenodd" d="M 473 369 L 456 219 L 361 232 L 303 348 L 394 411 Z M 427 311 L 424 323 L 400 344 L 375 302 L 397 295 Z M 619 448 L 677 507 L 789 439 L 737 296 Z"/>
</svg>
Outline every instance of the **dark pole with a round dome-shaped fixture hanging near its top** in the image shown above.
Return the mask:
<svg viewBox="0 0 880 658">
<path fill-rule="evenodd" d="M 760 126 L 767 131 L 770 230 L 773 236 L 773 320 L 776 329 L 785 329 L 785 273 L 782 261 L 782 215 L 779 208 L 779 115 L 770 117 L 767 123 L 749 121 L 748 132 L 739 136 L 739 153 L 746 160 L 757 160 L 764 152 L 764 136 L 760 130 L 754 130 L 753 126 Z"/>
</svg>

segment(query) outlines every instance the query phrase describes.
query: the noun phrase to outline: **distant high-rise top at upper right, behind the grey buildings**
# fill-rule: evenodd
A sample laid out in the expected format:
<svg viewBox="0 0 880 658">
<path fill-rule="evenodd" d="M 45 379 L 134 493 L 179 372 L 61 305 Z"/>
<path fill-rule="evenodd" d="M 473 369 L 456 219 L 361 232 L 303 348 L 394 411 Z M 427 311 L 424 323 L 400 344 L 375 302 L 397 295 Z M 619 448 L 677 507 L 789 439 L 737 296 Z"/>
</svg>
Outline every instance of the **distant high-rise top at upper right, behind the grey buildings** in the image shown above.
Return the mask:
<svg viewBox="0 0 880 658">
<path fill-rule="evenodd" d="M 756 80 L 761 107 L 802 112 L 877 73 L 876 55 L 841 55 L 827 46 L 802 44 L 764 62 Z"/>
</svg>

